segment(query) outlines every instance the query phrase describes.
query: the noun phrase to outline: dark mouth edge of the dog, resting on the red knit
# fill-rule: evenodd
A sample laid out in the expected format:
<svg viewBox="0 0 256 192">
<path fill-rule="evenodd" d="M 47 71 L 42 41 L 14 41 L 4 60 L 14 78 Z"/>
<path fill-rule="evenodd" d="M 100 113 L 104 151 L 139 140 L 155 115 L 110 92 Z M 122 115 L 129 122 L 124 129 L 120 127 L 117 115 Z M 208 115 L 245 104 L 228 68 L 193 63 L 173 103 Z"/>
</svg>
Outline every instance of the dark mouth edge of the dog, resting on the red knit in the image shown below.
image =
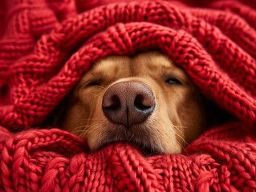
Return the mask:
<svg viewBox="0 0 256 192">
<path fill-rule="evenodd" d="M 99 149 L 103 149 L 104 147 L 114 145 L 116 143 L 124 143 L 124 144 L 134 146 L 137 150 L 140 151 L 140 154 L 142 154 L 144 157 L 162 154 L 160 150 L 156 149 L 156 147 L 147 146 L 147 145 L 144 145 L 143 143 L 139 143 L 139 142 L 124 141 L 124 140 L 104 142 L 104 143 L 102 143 L 102 145 L 100 145 Z"/>
</svg>

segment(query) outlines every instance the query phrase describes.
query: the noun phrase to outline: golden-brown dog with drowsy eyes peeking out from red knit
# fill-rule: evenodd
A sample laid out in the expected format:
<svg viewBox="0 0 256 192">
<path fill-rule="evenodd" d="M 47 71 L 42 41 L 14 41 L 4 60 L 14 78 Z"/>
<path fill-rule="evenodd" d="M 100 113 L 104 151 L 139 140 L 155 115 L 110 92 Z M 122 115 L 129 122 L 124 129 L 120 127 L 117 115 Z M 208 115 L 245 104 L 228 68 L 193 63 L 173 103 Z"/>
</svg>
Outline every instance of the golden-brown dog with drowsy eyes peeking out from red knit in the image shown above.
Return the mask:
<svg viewBox="0 0 256 192">
<path fill-rule="evenodd" d="M 63 128 L 91 151 L 128 142 L 143 154 L 180 153 L 205 126 L 205 110 L 189 77 L 160 52 L 104 58 L 68 98 Z"/>
</svg>

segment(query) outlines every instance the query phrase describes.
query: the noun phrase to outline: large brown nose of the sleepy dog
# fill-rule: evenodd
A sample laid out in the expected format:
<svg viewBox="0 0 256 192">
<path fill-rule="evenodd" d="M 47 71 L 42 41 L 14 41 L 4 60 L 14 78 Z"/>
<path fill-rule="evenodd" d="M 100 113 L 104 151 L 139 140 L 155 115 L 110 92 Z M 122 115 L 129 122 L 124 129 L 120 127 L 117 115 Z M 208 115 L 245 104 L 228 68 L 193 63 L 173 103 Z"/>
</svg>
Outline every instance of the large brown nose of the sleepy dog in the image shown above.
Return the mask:
<svg viewBox="0 0 256 192">
<path fill-rule="evenodd" d="M 106 90 L 102 101 L 105 116 L 127 128 L 144 122 L 155 105 L 152 90 L 141 82 L 117 82 Z"/>
</svg>

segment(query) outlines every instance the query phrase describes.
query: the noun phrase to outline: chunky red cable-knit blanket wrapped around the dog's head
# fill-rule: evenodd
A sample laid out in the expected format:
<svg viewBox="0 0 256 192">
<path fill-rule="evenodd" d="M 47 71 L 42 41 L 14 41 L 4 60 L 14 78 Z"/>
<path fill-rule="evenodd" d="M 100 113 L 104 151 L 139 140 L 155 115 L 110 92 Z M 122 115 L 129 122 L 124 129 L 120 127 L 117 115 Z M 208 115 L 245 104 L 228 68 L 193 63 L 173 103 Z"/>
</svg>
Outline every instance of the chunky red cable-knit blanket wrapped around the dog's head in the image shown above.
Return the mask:
<svg viewBox="0 0 256 192">
<path fill-rule="evenodd" d="M 0 2 L 0 191 L 256 191 L 255 2 L 109 2 Z M 91 63 L 152 49 L 237 120 L 149 158 L 39 127 Z"/>
</svg>

